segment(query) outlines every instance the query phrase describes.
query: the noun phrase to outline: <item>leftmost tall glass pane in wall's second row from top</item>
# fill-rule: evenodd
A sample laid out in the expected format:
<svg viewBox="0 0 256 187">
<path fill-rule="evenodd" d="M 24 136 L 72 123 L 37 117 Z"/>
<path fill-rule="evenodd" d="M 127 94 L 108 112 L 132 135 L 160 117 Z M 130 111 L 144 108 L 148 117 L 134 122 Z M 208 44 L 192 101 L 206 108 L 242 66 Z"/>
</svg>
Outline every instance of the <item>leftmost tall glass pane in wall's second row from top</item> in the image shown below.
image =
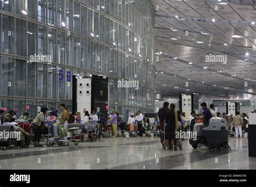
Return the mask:
<svg viewBox="0 0 256 187">
<path fill-rule="evenodd" d="M 2 52 L 14 54 L 14 18 L 3 15 Z"/>
</svg>

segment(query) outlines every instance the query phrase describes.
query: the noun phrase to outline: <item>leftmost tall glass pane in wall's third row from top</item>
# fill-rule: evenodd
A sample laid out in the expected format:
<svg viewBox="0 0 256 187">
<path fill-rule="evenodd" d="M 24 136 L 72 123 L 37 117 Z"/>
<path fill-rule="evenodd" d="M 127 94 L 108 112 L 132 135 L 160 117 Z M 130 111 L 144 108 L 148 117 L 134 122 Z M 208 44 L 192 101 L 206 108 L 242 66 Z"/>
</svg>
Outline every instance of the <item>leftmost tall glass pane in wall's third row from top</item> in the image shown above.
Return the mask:
<svg viewBox="0 0 256 187">
<path fill-rule="evenodd" d="M 2 95 L 14 95 L 14 59 L 2 59 Z"/>
</svg>

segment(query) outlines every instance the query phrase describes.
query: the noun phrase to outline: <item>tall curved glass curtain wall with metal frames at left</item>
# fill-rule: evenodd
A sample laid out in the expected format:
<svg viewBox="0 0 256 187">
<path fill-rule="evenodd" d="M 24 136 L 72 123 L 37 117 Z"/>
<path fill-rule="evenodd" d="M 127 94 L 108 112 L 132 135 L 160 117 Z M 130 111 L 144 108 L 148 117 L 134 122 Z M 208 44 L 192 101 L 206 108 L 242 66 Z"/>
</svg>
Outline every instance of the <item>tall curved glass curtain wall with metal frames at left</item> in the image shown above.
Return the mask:
<svg viewBox="0 0 256 187">
<path fill-rule="evenodd" d="M 3 0 L 0 7 L 3 110 L 35 117 L 61 102 L 71 110 L 70 76 L 105 74 L 110 110 L 125 118 L 154 111 L 150 1 Z M 122 79 L 138 81 L 138 89 L 118 88 Z"/>
</svg>

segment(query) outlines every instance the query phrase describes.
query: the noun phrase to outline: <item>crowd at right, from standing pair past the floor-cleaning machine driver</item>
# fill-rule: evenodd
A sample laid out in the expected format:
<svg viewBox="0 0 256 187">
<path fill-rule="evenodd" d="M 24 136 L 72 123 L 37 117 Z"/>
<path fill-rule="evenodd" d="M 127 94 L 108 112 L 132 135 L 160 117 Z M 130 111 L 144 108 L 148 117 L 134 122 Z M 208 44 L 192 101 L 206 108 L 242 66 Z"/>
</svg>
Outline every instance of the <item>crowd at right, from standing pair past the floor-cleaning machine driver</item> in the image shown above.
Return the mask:
<svg viewBox="0 0 256 187">
<path fill-rule="evenodd" d="M 200 123 L 194 124 L 193 131 L 199 133 L 200 127 L 207 125 L 208 121 L 212 117 L 220 117 L 220 118 L 225 118 L 228 125 L 231 126 L 231 128 L 234 128 L 235 131 L 235 137 L 242 138 L 242 131 L 245 130 L 246 124 L 248 123 L 248 116 L 246 113 L 240 114 L 240 112 L 237 112 L 235 116 L 233 117 L 232 114 L 226 114 L 226 113 L 220 113 L 220 112 L 215 112 L 215 105 L 211 104 L 210 109 L 207 107 L 207 104 L 205 102 L 201 103 L 201 108 L 204 110 L 203 113 L 195 113 L 194 111 L 191 112 L 190 117 L 186 117 L 185 112 L 181 112 L 179 110 L 175 109 L 175 104 L 170 104 L 169 108 L 169 103 L 164 102 L 164 106 L 159 109 L 158 111 L 158 118 L 160 121 L 160 130 L 163 131 L 164 129 L 164 121 L 166 121 L 166 132 L 168 135 L 168 141 L 169 145 L 171 145 L 171 142 L 173 141 L 174 144 L 174 150 L 177 150 L 177 139 L 175 136 L 175 133 L 179 131 L 178 129 L 180 128 L 181 131 L 187 131 L 188 127 L 190 126 L 190 122 L 194 117 L 196 116 L 203 116 L 203 121 Z M 256 113 L 256 110 L 253 111 Z M 252 113 L 253 113 L 252 112 Z M 163 146 L 163 139 L 160 139 L 161 145 Z M 169 147 L 169 149 L 172 149 Z"/>
</svg>

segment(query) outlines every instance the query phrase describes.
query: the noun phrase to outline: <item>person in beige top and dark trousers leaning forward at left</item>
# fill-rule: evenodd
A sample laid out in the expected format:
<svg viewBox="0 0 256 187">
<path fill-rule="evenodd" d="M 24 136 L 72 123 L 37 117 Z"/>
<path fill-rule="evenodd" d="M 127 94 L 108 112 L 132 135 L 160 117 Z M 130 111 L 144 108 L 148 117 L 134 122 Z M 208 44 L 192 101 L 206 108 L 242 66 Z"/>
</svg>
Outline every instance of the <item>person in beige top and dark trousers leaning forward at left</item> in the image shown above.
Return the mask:
<svg viewBox="0 0 256 187">
<path fill-rule="evenodd" d="M 34 147 L 42 147 L 42 145 L 40 145 L 40 140 L 44 128 L 44 122 L 46 122 L 45 115 L 47 114 L 47 111 L 48 108 L 43 106 L 41 112 L 39 112 L 35 119 L 32 121 L 32 130 L 34 132 Z"/>
</svg>

